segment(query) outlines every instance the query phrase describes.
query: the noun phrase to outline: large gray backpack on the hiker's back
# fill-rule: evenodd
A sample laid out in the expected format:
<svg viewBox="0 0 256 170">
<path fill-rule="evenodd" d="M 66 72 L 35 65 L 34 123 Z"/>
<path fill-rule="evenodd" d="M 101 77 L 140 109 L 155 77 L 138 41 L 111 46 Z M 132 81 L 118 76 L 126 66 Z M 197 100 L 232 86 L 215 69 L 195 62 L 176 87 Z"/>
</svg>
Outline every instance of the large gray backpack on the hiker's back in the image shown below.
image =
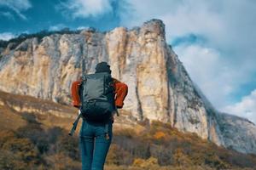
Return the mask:
<svg viewBox="0 0 256 170">
<path fill-rule="evenodd" d="M 113 79 L 108 72 L 84 75 L 79 86 L 81 114 L 89 122 L 108 122 L 114 110 Z"/>
</svg>

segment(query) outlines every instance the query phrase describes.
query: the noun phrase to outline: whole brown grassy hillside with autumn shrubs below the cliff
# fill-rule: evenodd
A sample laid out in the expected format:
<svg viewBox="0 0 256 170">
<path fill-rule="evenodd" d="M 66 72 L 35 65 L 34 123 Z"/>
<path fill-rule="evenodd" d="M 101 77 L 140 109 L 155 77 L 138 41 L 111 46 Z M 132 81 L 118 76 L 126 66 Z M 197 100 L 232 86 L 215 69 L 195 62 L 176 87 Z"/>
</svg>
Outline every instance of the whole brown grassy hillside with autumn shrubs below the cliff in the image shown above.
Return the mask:
<svg viewBox="0 0 256 170">
<path fill-rule="evenodd" d="M 226 150 L 162 122 L 129 126 L 129 113 L 121 114 L 114 124 L 107 170 L 256 167 L 254 155 Z M 1 92 L 0 169 L 81 169 L 79 127 L 74 137 L 67 135 L 75 115 L 69 106 Z M 128 123 L 121 127 L 124 120 Z"/>
</svg>

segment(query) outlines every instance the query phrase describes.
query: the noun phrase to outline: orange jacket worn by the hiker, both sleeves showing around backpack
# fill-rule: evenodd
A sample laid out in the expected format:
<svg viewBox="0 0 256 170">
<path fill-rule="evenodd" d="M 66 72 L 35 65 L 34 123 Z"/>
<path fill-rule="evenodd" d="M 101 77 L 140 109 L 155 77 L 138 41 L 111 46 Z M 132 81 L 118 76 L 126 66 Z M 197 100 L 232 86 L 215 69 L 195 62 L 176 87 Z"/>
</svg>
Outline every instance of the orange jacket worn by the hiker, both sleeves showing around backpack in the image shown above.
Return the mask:
<svg viewBox="0 0 256 170">
<path fill-rule="evenodd" d="M 79 99 L 79 85 L 81 82 L 82 80 L 78 80 L 72 83 L 71 94 L 74 107 L 79 107 L 81 105 Z M 119 82 L 117 79 L 113 78 L 113 88 L 115 93 L 114 103 L 117 108 L 122 108 L 128 93 L 128 86 L 124 82 Z"/>
</svg>

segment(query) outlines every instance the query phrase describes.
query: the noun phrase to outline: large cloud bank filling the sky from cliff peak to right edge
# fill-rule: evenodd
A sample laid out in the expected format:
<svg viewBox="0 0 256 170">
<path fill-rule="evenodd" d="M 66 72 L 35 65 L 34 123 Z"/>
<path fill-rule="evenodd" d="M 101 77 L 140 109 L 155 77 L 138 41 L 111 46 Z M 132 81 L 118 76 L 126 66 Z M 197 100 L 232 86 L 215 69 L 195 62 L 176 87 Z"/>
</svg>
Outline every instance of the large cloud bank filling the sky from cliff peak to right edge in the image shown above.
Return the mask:
<svg viewBox="0 0 256 170">
<path fill-rule="evenodd" d="M 166 25 L 166 39 L 189 34 L 204 44 L 174 47 L 192 79 L 217 108 L 230 105 L 231 94 L 252 82 L 256 73 L 256 1 L 130 0 L 131 13 L 121 25 L 139 26 L 157 18 Z M 241 97 L 241 96 L 239 96 Z"/>
</svg>

